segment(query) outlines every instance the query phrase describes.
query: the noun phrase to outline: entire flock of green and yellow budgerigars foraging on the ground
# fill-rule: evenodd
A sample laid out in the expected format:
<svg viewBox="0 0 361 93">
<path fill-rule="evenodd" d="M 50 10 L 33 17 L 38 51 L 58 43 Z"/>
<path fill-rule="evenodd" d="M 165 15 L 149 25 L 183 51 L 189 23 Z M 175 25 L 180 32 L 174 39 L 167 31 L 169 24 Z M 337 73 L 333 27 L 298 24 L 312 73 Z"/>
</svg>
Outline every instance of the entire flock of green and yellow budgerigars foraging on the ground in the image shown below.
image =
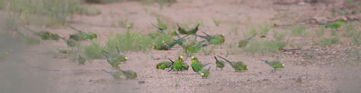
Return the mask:
<svg viewBox="0 0 361 93">
<path fill-rule="evenodd" d="M 337 31 L 336 28 L 340 27 L 344 21 L 345 21 L 345 19 L 339 19 L 331 24 L 322 24 L 322 25 L 325 27 L 333 28 Z M 152 24 L 152 25 L 154 27 L 156 27 L 157 30 L 160 31 L 161 33 L 165 32 L 165 29 L 159 28 L 154 24 Z M 189 31 L 187 31 L 183 27 L 179 26 L 178 24 L 177 24 L 177 26 L 178 26 L 179 33 L 187 34 L 187 35 L 180 38 L 180 36 L 178 35 L 177 32 L 171 33 L 174 36 L 177 36 L 179 39 L 177 39 L 177 40 L 173 39 L 171 41 L 162 41 L 161 43 L 156 43 L 154 46 L 152 46 L 152 48 L 155 50 L 169 50 L 170 48 L 172 48 L 176 44 L 178 44 L 179 46 L 181 46 L 183 48 L 184 51 L 195 53 L 195 52 L 199 51 L 202 47 L 211 45 L 213 43 L 220 44 L 220 43 L 225 42 L 224 34 L 208 35 L 205 32 L 203 32 L 206 36 L 197 35 L 196 32 L 198 31 L 199 24 L 196 25 L 196 27 L 190 29 Z M 79 31 L 73 27 L 70 27 L 70 28 L 74 29 L 75 31 L 78 31 L 79 33 L 70 34 L 69 39 L 65 39 L 63 37 L 60 37 L 58 34 L 50 33 L 48 31 L 36 32 L 27 27 L 24 27 L 24 28 L 28 29 L 31 32 L 34 32 L 35 35 L 39 36 L 40 39 L 42 39 L 42 40 L 56 40 L 57 41 L 60 38 L 60 39 L 62 39 L 62 41 L 64 41 L 66 43 L 66 45 L 68 47 L 73 47 L 73 46 L 79 45 L 78 41 L 81 41 L 81 40 L 97 38 L 97 35 L 95 33 Z M 37 38 L 25 36 L 24 34 L 22 34 L 19 31 L 16 31 L 16 32 L 19 33 L 20 36 L 22 36 L 27 43 L 32 43 L 32 44 L 40 43 L 39 39 L 37 39 Z M 195 39 L 192 39 L 192 40 L 186 42 L 185 37 L 189 36 L 190 34 L 194 34 Z M 254 34 L 252 37 L 254 37 L 255 35 L 256 34 Z M 198 42 L 196 40 L 197 37 L 201 37 L 206 40 Z M 240 40 L 237 43 L 237 46 L 240 48 L 245 47 L 247 45 L 248 41 L 252 37 Z M 210 42 L 210 43 L 203 44 L 204 42 Z M 109 53 L 106 51 L 101 51 L 101 54 L 103 54 L 106 57 L 106 61 L 112 66 L 113 69 L 117 69 L 120 71 L 116 71 L 116 72 L 110 72 L 110 71 L 105 71 L 105 70 L 101 70 L 101 71 L 105 71 L 106 73 L 109 73 L 110 75 L 113 76 L 114 79 L 122 79 L 123 76 L 125 76 L 127 79 L 135 79 L 137 77 L 137 73 L 135 71 L 120 69 L 121 62 L 126 62 L 128 57 L 126 57 L 126 55 L 119 52 L 119 49 L 117 46 L 116 46 L 116 48 L 117 48 L 117 53 L 112 54 L 112 53 Z M 218 57 L 221 57 L 221 56 L 218 56 Z M 216 59 L 216 70 L 217 70 L 217 68 L 221 68 L 221 70 L 223 70 L 223 68 L 225 67 L 225 61 L 227 61 L 235 71 L 247 71 L 248 70 L 248 66 L 243 61 L 229 61 L 229 60 L 226 60 L 225 58 L 221 57 L 223 60 L 225 60 L 225 61 L 222 61 L 222 60 L 218 60 L 216 56 L 214 56 L 214 58 Z M 178 74 L 178 71 L 188 70 L 188 68 L 189 68 L 189 65 L 186 62 L 183 62 L 183 61 L 185 61 L 185 60 L 183 60 L 183 56 L 179 56 L 176 61 L 172 61 L 171 59 L 169 59 L 169 60 L 170 61 L 162 61 L 162 62 L 158 63 L 156 65 L 156 69 L 164 70 L 164 69 L 168 68 L 168 69 L 170 69 L 168 71 L 177 70 L 177 74 Z M 258 59 L 258 60 L 260 60 L 260 59 Z M 261 61 L 264 61 L 266 64 L 270 65 L 274 70 L 285 67 L 285 65 L 280 61 L 267 61 L 267 60 L 261 60 Z M 79 55 L 78 62 L 79 62 L 79 65 L 80 64 L 84 65 L 86 60 Z M 208 63 L 208 64 L 210 64 L 210 63 Z M 203 65 L 202 62 L 200 60 L 198 60 L 197 57 L 194 57 L 194 56 L 192 57 L 191 67 L 192 67 L 193 71 L 200 74 L 202 78 L 207 78 L 210 74 L 210 72 L 209 72 L 210 67 L 208 69 L 203 69 L 208 64 Z"/>
</svg>

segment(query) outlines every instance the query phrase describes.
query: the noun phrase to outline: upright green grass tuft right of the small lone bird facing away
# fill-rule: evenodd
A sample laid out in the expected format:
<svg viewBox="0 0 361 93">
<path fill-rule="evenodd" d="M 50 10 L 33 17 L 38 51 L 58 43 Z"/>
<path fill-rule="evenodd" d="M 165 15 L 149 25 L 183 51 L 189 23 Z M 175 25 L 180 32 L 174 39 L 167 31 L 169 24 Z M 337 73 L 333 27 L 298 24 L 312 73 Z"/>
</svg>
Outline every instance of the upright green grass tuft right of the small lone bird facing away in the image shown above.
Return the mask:
<svg viewBox="0 0 361 93">
<path fill-rule="evenodd" d="M 101 46 L 100 43 L 98 43 L 96 39 L 93 39 L 93 42 L 84 46 L 83 54 L 86 56 L 86 59 L 88 59 L 88 60 L 99 59 L 99 58 L 104 57 L 104 55 L 100 53 L 101 50 L 104 50 L 104 49 L 105 49 L 104 46 Z M 107 51 L 107 52 L 110 52 L 110 51 Z"/>
</svg>

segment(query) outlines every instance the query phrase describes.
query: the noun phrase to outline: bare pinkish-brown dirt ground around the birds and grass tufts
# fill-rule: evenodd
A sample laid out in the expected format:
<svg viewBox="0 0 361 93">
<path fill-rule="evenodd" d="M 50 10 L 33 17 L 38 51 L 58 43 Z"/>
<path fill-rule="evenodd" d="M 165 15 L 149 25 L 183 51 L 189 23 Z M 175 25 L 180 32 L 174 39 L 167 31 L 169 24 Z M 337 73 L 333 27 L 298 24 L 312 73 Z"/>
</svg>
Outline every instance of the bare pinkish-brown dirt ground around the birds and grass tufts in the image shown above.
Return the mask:
<svg viewBox="0 0 361 93">
<path fill-rule="evenodd" d="M 301 0 L 302 1 L 302 0 Z M 200 31 L 208 34 L 225 34 L 226 44 L 238 42 L 243 39 L 243 33 L 248 33 L 252 25 L 260 25 L 265 21 L 275 24 L 286 23 L 312 23 L 333 21 L 344 18 L 343 15 L 333 15 L 332 8 L 339 9 L 344 1 L 339 0 L 317 0 L 317 3 L 300 5 L 299 0 L 177 0 L 171 6 L 164 6 L 159 9 L 157 3 L 144 5 L 135 1 L 126 1 L 110 4 L 94 4 L 101 10 L 100 15 L 74 15 L 70 25 L 83 31 L 98 34 L 97 40 L 105 44 L 107 36 L 113 33 L 122 33 L 125 29 L 118 26 L 118 20 L 127 19 L 134 21 L 134 31 L 149 33 L 155 31 L 151 23 L 157 20 L 154 14 L 162 15 L 169 21 L 170 26 L 175 23 L 182 23 L 188 19 L 202 20 L 204 25 Z M 296 3 L 295 3 L 296 2 Z M 147 11 L 146 11 L 147 10 Z M 284 15 L 287 14 L 287 15 Z M 360 14 L 349 15 L 350 18 L 361 17 Z M 212 18 L 220 18 L 221 24 L 214 25 Z M 314 19 L 314 20 L 310 20 Z M 239 21 L 238 21 L 239 20 Z M 231 34 L 232 24 L 238 23 L 238 34 Z M 318 29 L 317 25 L 309 24 L 308 29 Z M 359 26 L 358 26 L 359 27 Z M 68 27 L 44 28 L 32 27 L 34 29 L 46 29 L 60 36 L 68 36 L 74 31 Z M 152 29 L 152 30 L 149 30 Z M 274 27 L 277 31 L 284 31 L 282 27 Z M 344 31 L 344 26 L 339 30 Z M 331 29 L 325 29 L 325 36 L 329 36 Z M 312 32 L 312 31 L 311 31 Z M 213 56 L 222 56 L 216 52 L 211 55 L 204 55 L 198 52 L 195 56 L 203 63 L 210 64 L 210 76 L 202 79 L 201 76 L 190 68 L 188 71 L 167 72 L 168 70 L 157 70 L 155 65 L 161 61 L 168 61 L 168 58 L 175 60 L 183 55 L 191 64 L 191 57 L 186 57 L 181 48 L 175 47 L 169 51 L 152 50 L 149 54 L 142 51 L 125 52 L 129 60 L 122 64 L 122 69 L 131 69 L 138 73 L 136 79 L 114 80 L 112 76 L 100 69 L 116 71 L 109 67 L 105 59 L 95 59 L 90 64 L 78 65 L 69 59 L 53 58 L 52 53 L 56 49 L 66 48 L 62 41 L 42 41 L 46 45 L 39 44 L 29 46 L 30 50 L 15 50 L 13 54 L 6 57 L 3 62 L 10 66 L 1 65 L 2 71 L 15 70 L 21 75 L 9 76 L 13 82 L 2 81 L 4 86 L 21 87 L 17 92 L 37 93 L 359 93 L 361 92 L 360 63 L 350 65 L 347 63 L 348 55 L 344 54 L 345 49 L 350 46 L 349 37 L 340 37 L 340 42 L 331 47 L 320 47 L 312 44 L 312 36 L 291 37 L 290 42 L 305 42 L 302 50 L 316 49 L 314 60 L 306 59 L 301 50 L 281 51 L 270 54 L 246 54 L 240 53 L 229 55 L 229 60 L 242 60 L 249 66 L 248 71 L 234 72 L 230 65 L 226 64 L 223 70 L 215 69 Z M 270 31 L 266 38 L 256 36 L 254 39 L 275 39 L 273 31 Z M 84 41 L 83 44 L 91 41 Z M 16 46 L 15 46 L 16 47 Z M 289 48 L 289 47 L 287 47 Z M 234 47 L 234 50 L 242 50 Z M 216 51 L 226 52 L 225 48 L 217 48 Z M 152 55 L 155 58 L 151 58 Z M 165 59 L 163 55 L 167 55 Z M 21 57 L 18 57 L 21 56 Z M 286 64 L 284 69 L 273 71 L 273 69 L 257 59 L 282 61 Z M 338 59 L 335 59 L 337 57 Z M 219 57 L 218 57 L 219 58 Z M 60 71 L 39 70 L 52 69 Z M 208 68 L 209 66 L 206 66 Z M 16 68 L 16 69 L 14 69 Z M 2 72 L 6 73 L 6 72 Z M 12 78 L 17 77 L 17 78 Z M 297 79 L 301 79 L 301 82 Z M 176 87 L 179 80 L 178 87 Z M 145 83 L 138 84 L 139 81 Z M 8 86 L 9 87 L 9 86 Z"/>
</svg>

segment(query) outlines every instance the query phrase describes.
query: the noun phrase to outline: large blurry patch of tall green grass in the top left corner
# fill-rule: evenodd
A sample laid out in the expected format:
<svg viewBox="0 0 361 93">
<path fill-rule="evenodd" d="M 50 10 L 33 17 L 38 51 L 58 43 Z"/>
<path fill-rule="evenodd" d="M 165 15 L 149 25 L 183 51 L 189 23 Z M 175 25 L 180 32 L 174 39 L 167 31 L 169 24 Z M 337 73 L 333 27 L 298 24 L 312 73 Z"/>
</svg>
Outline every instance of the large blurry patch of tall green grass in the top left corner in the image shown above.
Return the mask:
<svg viewBox="0 0 361 93">
<path fill-rule="evenodd" d="M 27 24 L 68 25 L 73 14 L 100 14 L 100 10 L 87 7 L 74 0 L 5 0 L 5 11 L 14 11 Z"/>
</svg>

